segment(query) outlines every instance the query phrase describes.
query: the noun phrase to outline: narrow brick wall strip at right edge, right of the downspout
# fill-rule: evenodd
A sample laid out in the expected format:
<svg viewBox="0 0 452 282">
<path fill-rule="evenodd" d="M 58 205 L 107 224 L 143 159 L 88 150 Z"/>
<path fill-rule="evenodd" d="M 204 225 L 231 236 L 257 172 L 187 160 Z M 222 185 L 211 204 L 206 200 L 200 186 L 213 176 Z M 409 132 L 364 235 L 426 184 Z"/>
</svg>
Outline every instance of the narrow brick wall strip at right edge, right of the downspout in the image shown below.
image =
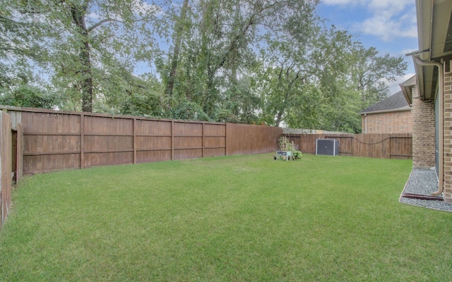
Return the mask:
<svg viewBox="0 0 452 282">
<path fill-rule="evenodd" d="M 444 71 L 444 200 L 452 202 L 452 62 Z"/>
</svg>

